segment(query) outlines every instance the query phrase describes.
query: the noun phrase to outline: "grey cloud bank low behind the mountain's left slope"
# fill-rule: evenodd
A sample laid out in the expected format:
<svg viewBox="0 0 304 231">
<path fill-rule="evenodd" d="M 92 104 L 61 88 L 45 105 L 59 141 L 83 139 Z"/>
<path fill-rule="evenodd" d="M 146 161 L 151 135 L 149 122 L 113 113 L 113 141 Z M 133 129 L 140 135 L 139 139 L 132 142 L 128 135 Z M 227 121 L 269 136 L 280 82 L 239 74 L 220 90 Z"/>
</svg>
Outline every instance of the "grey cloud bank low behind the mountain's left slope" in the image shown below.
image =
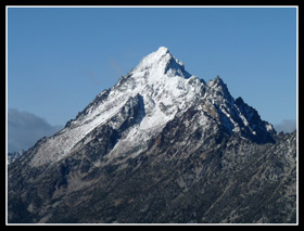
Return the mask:
<svg viewBox="0 0 304 231">
<path fill-rule="evenodd" d="M 46 119 L 16 108 L 8 111 L 8 151 L 27 150 L 40 138 L 49 137 L 63 126 L 52 126 Z"/>
</svg>

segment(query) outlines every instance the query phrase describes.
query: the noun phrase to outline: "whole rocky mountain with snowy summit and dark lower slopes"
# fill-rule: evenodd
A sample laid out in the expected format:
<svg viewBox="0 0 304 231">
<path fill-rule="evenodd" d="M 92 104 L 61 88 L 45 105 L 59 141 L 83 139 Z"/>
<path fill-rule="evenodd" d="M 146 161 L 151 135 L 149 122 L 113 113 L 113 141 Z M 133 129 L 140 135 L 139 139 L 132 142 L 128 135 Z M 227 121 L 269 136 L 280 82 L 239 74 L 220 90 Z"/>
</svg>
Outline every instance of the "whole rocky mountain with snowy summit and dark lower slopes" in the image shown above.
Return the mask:
<svg viewBox="0 0 304 231">
<path fill-rule="evenodd" d="M 147 55 L 9 166 L 12 223 L 296 222 L 296 133 Z"/>
</svg>

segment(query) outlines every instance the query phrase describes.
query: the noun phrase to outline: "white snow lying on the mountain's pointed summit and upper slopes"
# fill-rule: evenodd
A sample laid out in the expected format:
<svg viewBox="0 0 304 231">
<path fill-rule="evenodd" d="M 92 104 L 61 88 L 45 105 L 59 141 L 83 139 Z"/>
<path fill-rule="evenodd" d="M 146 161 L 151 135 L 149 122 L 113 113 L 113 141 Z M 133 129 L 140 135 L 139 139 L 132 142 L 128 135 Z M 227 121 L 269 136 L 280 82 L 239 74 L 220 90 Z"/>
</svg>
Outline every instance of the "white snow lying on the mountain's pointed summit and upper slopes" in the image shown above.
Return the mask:
<svg viewBox="0 0 304 231">
<path fill-rule="evenodd" d="M 147 55 L 142 61 L 129 72 L 127 77 L 123 77 L 110 89 L 107 98 L 102 102 L 94 102 L 85 115 L 79 116 L 72 123 L 71 127 L 64 128 L 61 132 L 49 138 L 42 144 L 30 162 L 31 166 L 41 166 L 48 163 L 58 162 L 74 150 L 76 144 L 86 139 L 90 141 L 88 133 L 98 126 L 107 123 L 126 104 L 128 99 L 140 94 L 144 102 L 144 117 L 140 124 L 131 128 L 126 137 L 118 141 L 110 154 L 109 159 L 114 158 L 124 150 L 131 150 L 140 140 L 142 146 L 151 137 L 157 136 L 164 126 L 172 120 L 177 112 L 187 111 L 199 98 L 206 98 L 213 104 L 224 102 L 220 105 L 223 113 L 227 116 L 227 127 L 238 130 L 239 125 L 230 116 L 231 108 L 226 100 L 214 100 L 214 95 L 202 93 L 202 86 L 206 85 L 213 92 L 221 90 L 217 85 L 221 81 L 216 78 L 205 84 L 204 80 L 192 76 L 183 69 L 183 63 L 174 57 L 167 48 L 161 47 L 157 51 Z M 101 95 L 101 93 L 100 93 Z M 230 105 L 231 106 L 231 105 Z M 235 108 L 237 110 L 237 108 Z M 240 112 L 238 112 L 241 114 Z M 241 116 L 244 125 L 248 121 Z M 200 126 L 207 123 L 202 116 Z M 115 124 L 110 124 L 115 129 Z M 198 125 L 199 126 L 199 125 Z M 232 127 L 231 127 L 232 126 Z M 270 129 L 270 127 L 269 127 Z M 268 130 L 268 128 L 267 128 Z M 137 152 L 140 153 L 140 152 Z M 134 154 L 136 155 L 136 154 Z"/>
</svg>

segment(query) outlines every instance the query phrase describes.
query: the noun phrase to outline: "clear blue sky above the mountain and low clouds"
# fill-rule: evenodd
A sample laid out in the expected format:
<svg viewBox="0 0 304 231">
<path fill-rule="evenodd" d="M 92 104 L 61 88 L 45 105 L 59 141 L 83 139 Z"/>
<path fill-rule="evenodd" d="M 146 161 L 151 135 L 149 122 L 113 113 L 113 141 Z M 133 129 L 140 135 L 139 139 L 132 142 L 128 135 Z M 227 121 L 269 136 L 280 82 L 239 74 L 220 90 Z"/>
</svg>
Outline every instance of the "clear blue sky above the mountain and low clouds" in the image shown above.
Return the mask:
<svg viewBox="0 0 304 231">
<path fill-rule="evenodd" d="M 8 108 L 65 125 L 164 46 L 279 124 L 296 118 L 295 8 L 9 8 Z"/>
</svg>

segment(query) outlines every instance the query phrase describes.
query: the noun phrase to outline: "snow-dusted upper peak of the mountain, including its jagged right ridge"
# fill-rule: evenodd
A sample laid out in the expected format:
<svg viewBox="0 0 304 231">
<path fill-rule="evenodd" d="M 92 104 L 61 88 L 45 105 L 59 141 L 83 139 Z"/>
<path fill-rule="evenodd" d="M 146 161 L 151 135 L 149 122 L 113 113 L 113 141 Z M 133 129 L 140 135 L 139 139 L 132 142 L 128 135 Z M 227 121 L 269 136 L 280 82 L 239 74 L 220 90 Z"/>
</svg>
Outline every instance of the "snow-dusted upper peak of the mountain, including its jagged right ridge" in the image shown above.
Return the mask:
<svg viewBox="0 0 304 231">
<path fill-rule="evenodd" d="M 43 141 L 31 165 L 64 158 L 81 142 L 90 142 L 92 132 L 105 125 L 119 133 L 118 142 L 107 155 L 112 158 L 122 150 L 134 149 L 137 145 L 135 140 L 144 143 L 156 137 L 168 121 L 193 106 L 202 111 L 198 118 L 200 126 L 216 123 L 228 133 L 241 131 L 241 136 L 250 137 L 246 133 L 261 130 L 262 137 L 267 134 L 266 124 L 259 123 L 259 117 L 253 121 L 257 127 L 263 126 L 259 130 L 246 120 L 248 110 L 242 110 L 246 107 L 235 103 L 220 77 L 206 84 L 189 74 L 182 62 L 167 48 L 161 47 L 143 57 L 114 87 L 98 94 L 63 130 Z M 134 112 L 140 112 L 140 117 L 136 118 L 138 113 Z"/>
</svg>

